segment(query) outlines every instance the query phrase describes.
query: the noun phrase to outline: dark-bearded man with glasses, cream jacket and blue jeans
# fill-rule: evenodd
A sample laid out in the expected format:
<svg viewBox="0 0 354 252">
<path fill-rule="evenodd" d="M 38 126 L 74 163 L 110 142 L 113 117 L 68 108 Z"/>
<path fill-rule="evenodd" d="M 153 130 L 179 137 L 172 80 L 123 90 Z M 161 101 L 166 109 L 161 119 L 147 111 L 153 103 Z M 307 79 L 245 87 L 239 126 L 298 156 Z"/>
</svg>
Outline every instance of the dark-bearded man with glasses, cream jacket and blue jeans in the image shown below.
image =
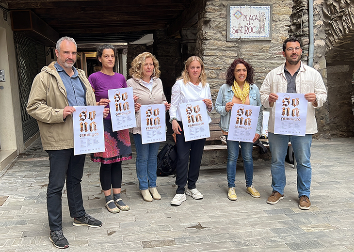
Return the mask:
<svg viewBox="0 0 354 252">
<path fill-rule="evenodd" d="M 285 63 L 268 73 L 259 89 L 261 103 L 265 108 L 271 108 L 268 132 L 272 152 L 272 188 L 268 204 L 277 204 L 284 198 L 286 185 L 284 161 L 291 142 L 297 162 L 297 190 L 299 208 L 310 209 L 311 163 L 310 148 L 312 134 L 317 133 L 315 109 L 320 108 L 327 99 L 327 91 L 318 71 L 300 61 L 302 55 L 301 41 L 290 37 L 283 43 Z M 275 101 L 279 98 L 276 93 L 305 94 L 307 100 L 306 135 L 291 136 L 274 134 Z"/>
</svg>

